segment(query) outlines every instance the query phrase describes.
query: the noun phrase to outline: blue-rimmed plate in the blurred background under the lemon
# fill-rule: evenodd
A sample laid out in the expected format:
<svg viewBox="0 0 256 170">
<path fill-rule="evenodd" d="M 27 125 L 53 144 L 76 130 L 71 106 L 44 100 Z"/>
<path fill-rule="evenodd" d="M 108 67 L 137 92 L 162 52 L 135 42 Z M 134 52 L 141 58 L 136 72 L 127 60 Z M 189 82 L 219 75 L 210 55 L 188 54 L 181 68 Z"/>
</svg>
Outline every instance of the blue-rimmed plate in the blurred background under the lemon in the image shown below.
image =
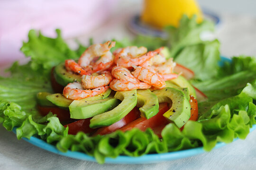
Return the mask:
<svg viewBox="0 0 256 170">
<path fill-rule="evenodd" d="M 220 19 L 217 14 L 206 9 L 202 9 L 202 11 L 204 17 L 212 21 L 215 26 L 218 26 L 220 24 Z M 165 38 L 167 36 L 166 33 L 160 29 L 143 24 L 140 21 L 140 15 L 136 15 L 130 19 L 130 21 L 128 22 L 128 28 L 131 32 L 135 34 L 153 35 L 162 38 Z"/>
</svg>

